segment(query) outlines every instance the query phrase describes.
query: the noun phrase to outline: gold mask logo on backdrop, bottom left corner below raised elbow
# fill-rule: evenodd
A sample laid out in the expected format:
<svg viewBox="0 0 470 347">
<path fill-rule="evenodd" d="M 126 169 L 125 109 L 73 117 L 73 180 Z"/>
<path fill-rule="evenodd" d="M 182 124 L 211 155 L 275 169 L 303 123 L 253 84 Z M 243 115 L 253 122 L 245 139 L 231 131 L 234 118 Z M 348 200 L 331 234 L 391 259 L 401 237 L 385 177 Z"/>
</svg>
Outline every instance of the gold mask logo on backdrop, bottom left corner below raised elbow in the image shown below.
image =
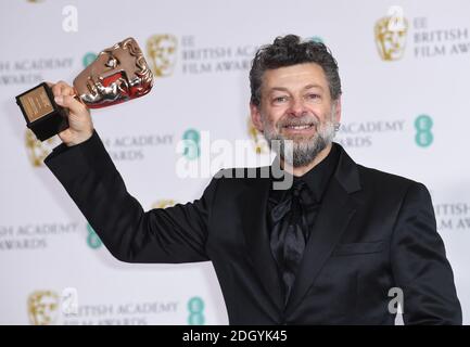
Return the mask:
<svg viewBox="0 0 470 347">
<path fill-rule="evenodd" d="M 37 291 L 27 300 L 29 322 L 34 325 L 50 325 L 58 316 L 59 295 L 52 291 Z"/>
</svg>

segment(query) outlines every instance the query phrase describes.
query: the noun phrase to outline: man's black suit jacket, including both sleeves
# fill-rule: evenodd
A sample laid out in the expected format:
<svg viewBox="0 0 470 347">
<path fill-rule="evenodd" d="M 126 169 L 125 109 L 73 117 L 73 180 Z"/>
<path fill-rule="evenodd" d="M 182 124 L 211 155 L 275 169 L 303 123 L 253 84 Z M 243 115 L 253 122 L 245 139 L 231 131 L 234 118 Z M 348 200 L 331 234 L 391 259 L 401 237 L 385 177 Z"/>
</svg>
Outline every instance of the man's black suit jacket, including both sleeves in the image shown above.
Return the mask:
<svg viewBox="0 0 470 347">
<path fill-rule="evenodd" d="M 46 164 L 117 259 L 213 261 L 231 324 L 393 324 L 392 287 L 405 323 L 460 324 L 425 187 L 340 151 L 287 307 L 266 229 L 270 179 L 214 178 L 200 200 L 145 213 L 96 132 Z"/>
</svg>

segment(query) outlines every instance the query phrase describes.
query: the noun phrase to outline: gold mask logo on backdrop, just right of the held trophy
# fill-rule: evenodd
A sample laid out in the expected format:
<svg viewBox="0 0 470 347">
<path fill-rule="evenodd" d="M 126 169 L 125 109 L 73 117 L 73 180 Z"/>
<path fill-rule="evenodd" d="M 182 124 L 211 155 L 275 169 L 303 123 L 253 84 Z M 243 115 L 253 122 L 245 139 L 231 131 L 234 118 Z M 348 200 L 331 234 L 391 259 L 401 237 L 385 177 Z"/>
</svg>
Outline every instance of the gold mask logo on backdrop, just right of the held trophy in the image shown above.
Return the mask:
<svg viewBox="0 0 470 347">
<path fill-rule="evenodd" d="M 147 40 L 147 55 L 156 77 L 167 77 L 173 74 L 177 49 L 178 40 L 169 34 L 153 35 Z"/>
</svg>

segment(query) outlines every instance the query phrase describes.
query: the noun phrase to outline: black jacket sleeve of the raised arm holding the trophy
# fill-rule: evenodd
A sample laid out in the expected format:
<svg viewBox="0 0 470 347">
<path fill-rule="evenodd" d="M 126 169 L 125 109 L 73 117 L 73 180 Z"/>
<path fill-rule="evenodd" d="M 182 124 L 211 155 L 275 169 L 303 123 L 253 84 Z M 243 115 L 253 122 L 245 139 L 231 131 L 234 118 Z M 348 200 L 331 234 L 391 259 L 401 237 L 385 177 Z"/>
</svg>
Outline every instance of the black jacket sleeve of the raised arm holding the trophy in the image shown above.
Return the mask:
<svg viewBox="0 0 470 347">
<path fill-rule="evenodd" d="M 59 145 L 45 164 L 117 259 L 167 264 L 209 260 L 205 241 L 216 179 L 193 203 L 145 213 L 127 192 L 96 131 L 78 145 Z"/>
</svg>

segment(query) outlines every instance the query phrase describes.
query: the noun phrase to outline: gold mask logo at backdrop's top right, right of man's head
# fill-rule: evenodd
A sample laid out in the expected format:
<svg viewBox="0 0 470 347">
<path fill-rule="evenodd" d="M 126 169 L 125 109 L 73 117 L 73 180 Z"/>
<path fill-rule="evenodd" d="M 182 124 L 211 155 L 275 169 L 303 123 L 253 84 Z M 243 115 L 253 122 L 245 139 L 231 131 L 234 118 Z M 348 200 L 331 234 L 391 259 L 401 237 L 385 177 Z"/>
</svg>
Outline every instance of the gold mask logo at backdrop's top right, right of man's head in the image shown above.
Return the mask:
<svg viewBox="0 0 470 347">
<path fill-rule="evenodd" d="M 376 44 L 380 57 L 384 61 L 397 61 L 403 57 L 406 47 L 408 21 L 401 7 L 391 7 L 389 15 L 377 21 L 374 26 Z"/>
</svg>

